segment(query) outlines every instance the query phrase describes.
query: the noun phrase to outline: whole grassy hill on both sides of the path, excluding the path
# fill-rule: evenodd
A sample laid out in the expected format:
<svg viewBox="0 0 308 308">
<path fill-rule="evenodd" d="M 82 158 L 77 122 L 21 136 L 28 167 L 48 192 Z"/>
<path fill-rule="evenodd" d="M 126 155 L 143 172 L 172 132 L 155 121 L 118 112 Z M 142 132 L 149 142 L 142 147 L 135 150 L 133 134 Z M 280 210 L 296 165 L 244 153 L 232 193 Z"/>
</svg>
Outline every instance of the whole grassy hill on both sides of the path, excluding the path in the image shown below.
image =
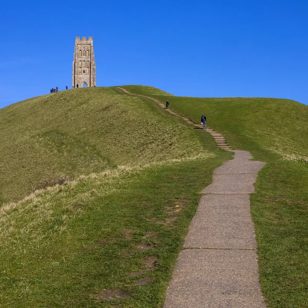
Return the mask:
<svg viewBox="0 0 308 308">
<path fill-rule="evenodd" d="M 123 87 L 196 123 L 204 112 L 267 162 L 251 196 L 262 291 L 268 307 L 308 307 L 308 107 Z M 0 306 L 162 307 L 198 192 L 231 154 L 117 88 L 0 109 L 0 134 Z"/>
</svg>

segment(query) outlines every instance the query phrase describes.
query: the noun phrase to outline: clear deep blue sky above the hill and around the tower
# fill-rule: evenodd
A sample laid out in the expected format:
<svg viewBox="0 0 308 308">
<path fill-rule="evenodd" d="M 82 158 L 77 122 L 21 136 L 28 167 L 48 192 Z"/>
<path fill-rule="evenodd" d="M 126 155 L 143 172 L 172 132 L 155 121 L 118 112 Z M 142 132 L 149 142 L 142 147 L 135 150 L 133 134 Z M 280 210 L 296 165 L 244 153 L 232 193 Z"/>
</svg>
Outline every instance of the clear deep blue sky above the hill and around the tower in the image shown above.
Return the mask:
<svg viewBox="0 0 308 308">
<path fill-rule="evenodd" d="M 308 2 L 3 1 L 0 107 L 71 87 L 75 36 L 93 36 L 97 86 L 308 104 Z"/>
</svg>

